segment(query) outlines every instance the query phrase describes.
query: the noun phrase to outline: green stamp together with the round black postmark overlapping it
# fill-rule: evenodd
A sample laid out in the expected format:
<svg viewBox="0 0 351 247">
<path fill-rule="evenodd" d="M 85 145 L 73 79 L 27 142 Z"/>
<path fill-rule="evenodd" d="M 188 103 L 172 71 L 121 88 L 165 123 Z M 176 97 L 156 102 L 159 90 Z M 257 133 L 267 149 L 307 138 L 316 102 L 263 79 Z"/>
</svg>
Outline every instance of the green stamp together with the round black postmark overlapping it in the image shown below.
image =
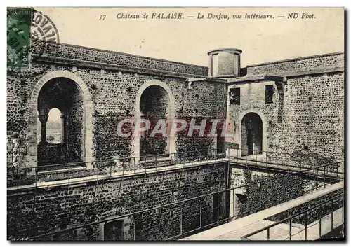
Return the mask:
<svg viewBox="0 0 351 247">
<path fill-rule="evenodd" d="M 30 71 L 31 63 L 42 59 L 48 46 L 57 48 L 59 42 L 58 29 L 47 15 L 33 8 L 8 8 L 8 74 L 27 78 L 44 73 L 49 64 Z"/>
</svg>

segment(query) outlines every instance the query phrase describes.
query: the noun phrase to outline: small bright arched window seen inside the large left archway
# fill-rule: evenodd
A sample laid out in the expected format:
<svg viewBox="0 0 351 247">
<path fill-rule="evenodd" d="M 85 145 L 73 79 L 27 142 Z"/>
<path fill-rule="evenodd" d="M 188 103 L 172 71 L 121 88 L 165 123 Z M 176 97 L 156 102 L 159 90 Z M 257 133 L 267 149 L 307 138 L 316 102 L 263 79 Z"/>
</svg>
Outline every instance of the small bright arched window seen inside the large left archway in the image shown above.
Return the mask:
<svg viewBox="0 0 351 247">
<path fill-rule="evenodd" d="M 58 108 L 52 108 L 48 112 L 48 122 L 46 122 L 46 141 L 48 143 L 62 143 L 62 118 Z"/>
</svg>

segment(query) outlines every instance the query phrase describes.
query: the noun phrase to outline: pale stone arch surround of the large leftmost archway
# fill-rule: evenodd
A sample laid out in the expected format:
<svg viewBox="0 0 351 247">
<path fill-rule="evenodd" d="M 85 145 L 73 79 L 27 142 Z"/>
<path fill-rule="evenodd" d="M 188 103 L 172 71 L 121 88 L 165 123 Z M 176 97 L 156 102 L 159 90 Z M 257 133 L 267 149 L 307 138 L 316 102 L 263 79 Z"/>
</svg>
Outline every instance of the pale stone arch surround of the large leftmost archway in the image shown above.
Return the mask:
<svg viewBox="0 0 351 247">
<path fill-rule="evenodd" d="M 53 78 L 68 78 L 78 85 L 83 96 L 83 127 L 82 127 L 82 146 L 81 160 L 83 162 L 93 159 L 93 101 L 88 87 L 77 75 L 69 71 L 52 71 L 42 76 L 32 90 L 29 99 L 29 125 L 27 129 L 27 143 L 29 152 L 27 162 L 29 166 L 37 166 L 37 118 L 38 118 L 38 97 L 41 88 Z M 87 164 L 89 167 L 91 164 Z"/>
</svg>

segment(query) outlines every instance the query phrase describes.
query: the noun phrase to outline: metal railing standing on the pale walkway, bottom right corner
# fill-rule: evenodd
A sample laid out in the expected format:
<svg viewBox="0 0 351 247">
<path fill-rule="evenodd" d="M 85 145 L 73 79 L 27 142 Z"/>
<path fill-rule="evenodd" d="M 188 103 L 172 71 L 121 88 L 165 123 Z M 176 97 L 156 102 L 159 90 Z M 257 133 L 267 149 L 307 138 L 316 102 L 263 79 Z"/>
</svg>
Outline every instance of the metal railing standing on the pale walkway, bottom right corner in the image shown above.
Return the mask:
<svg viewBox="0 0 351 247">
<path fill-rule="evenodd" d="M 243 237 L 241 237 L 241 239 L 242 240 L 253 240 L 253 239 L 249 239 L 249 238 L 255 236 L 256 234 L 267 232 L 267 235 L 266 235 L 267 239 L 266 240 L 288 240 L 288 239 L 289 240 L 293 240 L 292 238 L 294 236 L 304 232 L 303 237 L 301 238 L 300 236 L 296 236 L 296 237 L 299 237 L 296 240 L 312 240 L 312 239 L 308 239 L 308 237 L 307 237 L 307 235 L 308 235 L 307 234 L 307 230 L 309 228 L 314 227 L 314 225 L 319 225 L 319 231 L 318 231 L 317 238 L 320 238 L 323 235 L 323 233 L 322 233 L 322 225 L 323 225 L 322 221 L 323 221 L 323 218 L 325 218 L 325 216 L 329 216 L 329 214 L 330 214 L 330 216 L 331 216 L 330 217 L 331 218 L 331 220 L 330 220 L 330 223 L 331 223 L 330 231 L 332 231 L 334 229 L 334 223 L 335 223 L 335 221 L 333 220 L 333 216 L 334 216 L 334 213 L 337 210 L 333 210 L 333 211 L 331 211 L 331 213 L 324 213 L 324 211 L 322 211 L 321 214 L 323 216 L 319 216 L 320 218 L 317 220 L 317 223 L 312 223 L 310 225 L 307 225 L 307 223 L 308 223 L 307 216 L 309 214 L 311 214 L 313 211 L 316 211 L 316 210 L 320 209 L 322 206 L 326 206 L 326 205 L 328 205 L 330 203 L 331 203 L 332 206 L 335 205 L 334 202 L 336 202 L 336 201 L 341 201 L 341 204 L 343 204 L 343 200 L 344 200 L 344 193 L 341 193 L 340 195 L 336 195 L 336 196 L 334 196 L 334 197 L 332 197 L 330 199 L 326 199 L 326 200 L 324 200 L 324 202 L 321 202 L 321 203 L 319 203 L 319 204 L 317 204 L 315 206 L 312 206 L 312 207 L 310 207 L 308 209 L 300 211 L 299 213 L 296 213 L 293 216 L 289 216 L 287 218 L 284 218 L 284 220 L 279 220 L 278 222 L 273 223 L 271 225 L 268 225 L 267 227 L 263 227 L 260 230 L 256 230 L 255 232 L 251 232 L 249 234 L 246 234 Z M 341 213 L 342 213 L 341 223 L 343 224 L 344 223 L 344 209 L 343 209 L 343 205 L 341 205 L 341 206 L 340 205 L 336 205 L 336 207 L 338 207 L 338 209 L 342 209 L 341 210 Z M 303 217 L 303 229 L 299 230 L 296 233 L 293 233 L 293 231 L 292 231 L 293 219 L 294 218 L 298 218 L 298 216 L 304 216 Z M 326 221 L 326 223 L 328 224 L 329 220 L 324 220 L 324 221 Z M 271 229 L 273 227 L 276 227 L 276 226 L 280 225 L 280 224 L 286 224 L 286 223 L 288 223 L 288 225 L 289 225 L 289 236 L 288 237 L 284 237 L 284 239 L 272 239 L 272 237 L 271 237 L 271 235 L 272 235 L 271 234 Z M 324 232 L 324 234 L 326 234 L 326 232 Z M 260 236 L 262 236 L 262 235 L 263 234 L 260 234 Z M 258 240 L 258 239 L 256 239 L 256 240 Z M 265 239 L 259 239 L 259 240 L 265 240 Z"/>
</svg>

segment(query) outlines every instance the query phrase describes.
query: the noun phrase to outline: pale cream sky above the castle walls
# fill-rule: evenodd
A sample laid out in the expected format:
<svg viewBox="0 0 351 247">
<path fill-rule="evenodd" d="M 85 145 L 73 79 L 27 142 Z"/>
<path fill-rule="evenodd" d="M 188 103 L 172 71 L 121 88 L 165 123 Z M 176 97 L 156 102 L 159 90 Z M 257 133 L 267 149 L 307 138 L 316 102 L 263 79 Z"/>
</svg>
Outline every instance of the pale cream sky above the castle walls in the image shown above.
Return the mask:
<svg viewBox="0 0 351 247">
<path fill-rule="evenodd" d="M 208 66 L 207 52 L 239 48 L 241 67 L 344 50 L 343 8 L 35 8 L 51 18 L 60 43 L 114 50 Z M 117 19 L 117 14 L 140 19 Z M 149 15 L 142 19 L 143 14 Z M 150 19 L 152 13 L 182 13 L 181 20 Z M 204 20 L 197 19 L 198 14 Z M 232 19 L 232 15 L 274 19 Z M 298 13 L 297 19 L 287 19 Z M 303 13 L 313 18 L 302 19 Z M 230 20 L 206 19 L 208 14 Z M 99 20 L 105 15 L 105 20 Z M 189 18 L 187 16 L 194 16 Z M 285 16 L 285 17 L 278 17 Z"/>
</svg>

